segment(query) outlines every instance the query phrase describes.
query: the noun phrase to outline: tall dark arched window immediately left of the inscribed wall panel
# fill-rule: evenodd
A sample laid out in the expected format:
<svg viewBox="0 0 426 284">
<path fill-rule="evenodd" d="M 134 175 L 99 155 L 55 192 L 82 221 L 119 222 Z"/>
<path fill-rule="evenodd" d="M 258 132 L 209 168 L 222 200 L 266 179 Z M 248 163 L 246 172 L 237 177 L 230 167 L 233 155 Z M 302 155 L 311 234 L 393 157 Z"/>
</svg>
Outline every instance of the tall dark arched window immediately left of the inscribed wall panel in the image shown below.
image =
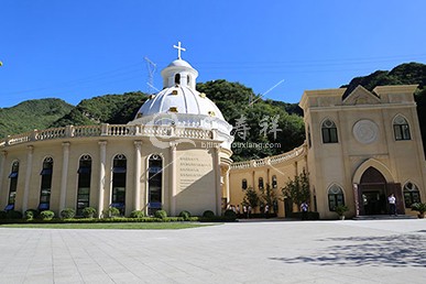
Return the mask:
<svg viewBox="0 0 426 284">
<path fill-rule="evenodd" d="M 162 209 L 163 201 L 163 160 L 160 155 L 150 156 L 148 175 L 148 214 L 154 215 L 156 210 Z"/>
</svg>

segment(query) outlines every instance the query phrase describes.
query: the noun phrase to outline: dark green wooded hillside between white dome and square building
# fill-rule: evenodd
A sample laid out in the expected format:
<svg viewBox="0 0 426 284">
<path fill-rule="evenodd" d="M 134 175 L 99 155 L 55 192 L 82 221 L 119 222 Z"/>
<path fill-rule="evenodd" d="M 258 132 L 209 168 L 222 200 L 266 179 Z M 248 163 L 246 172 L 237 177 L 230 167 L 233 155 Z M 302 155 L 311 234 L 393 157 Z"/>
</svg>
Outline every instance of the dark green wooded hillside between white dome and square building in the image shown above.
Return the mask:
<svg viewBox="0 0 426 284">
<path fill-rule="evenodd" d="M 299 116 L 302 110 L 296 110 L 295 106 L 273 100 L 264 101 L 254 95 L 251 88 L 239 83 L 226 80 L 199 83 L 197 89 L 215 101 L 225 119 L 236 128 L 232 132 L 236 138 L 236 143 L 232 144 L 234 161 L 281 154 L 299 146 L 305 140 L 305 127 Z M 251 106 L 249 106 L 250 101 L 253 101 Z M 294 114 L 288 114 L 287 109 Z M 273 119 L 276 119 L 276 129 L 278 129 L 275 134 L 272 129 Z M 245 133 L 238 131 L 241 130 L 237 128 L 239 121 L 243 121 L 241 124 L 247 127 Z M 265 143 L 277 143 L 277 145 L 258 149 L 244 148 L 238 142 L 247 142 L 251 145 Z"/>
</svg>

